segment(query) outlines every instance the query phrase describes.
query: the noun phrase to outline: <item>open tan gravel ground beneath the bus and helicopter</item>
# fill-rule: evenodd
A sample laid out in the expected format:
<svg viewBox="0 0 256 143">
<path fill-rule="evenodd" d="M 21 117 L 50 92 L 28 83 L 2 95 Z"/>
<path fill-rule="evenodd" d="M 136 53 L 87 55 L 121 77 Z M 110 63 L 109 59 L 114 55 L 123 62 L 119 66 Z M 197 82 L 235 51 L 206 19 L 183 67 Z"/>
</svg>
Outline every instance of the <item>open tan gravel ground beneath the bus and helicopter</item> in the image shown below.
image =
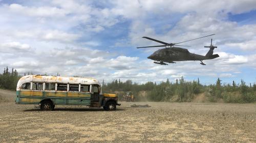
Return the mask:
<svg viewBox="0 0 256 143">
<path fill-rule="evenodd" d="M 0 90 L 0 142 L 256 142 L 256 104 L 147 102 L 117 111 L 16 105 Z"/>
</svg>

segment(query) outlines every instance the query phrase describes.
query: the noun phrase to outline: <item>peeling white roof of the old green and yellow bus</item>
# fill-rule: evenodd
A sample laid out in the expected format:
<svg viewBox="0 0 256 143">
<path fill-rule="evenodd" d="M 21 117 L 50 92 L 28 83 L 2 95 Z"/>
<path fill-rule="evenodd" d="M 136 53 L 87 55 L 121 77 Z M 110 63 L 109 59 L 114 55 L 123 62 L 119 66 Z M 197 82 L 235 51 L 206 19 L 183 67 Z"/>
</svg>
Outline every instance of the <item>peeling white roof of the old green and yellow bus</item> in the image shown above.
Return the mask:
<svg viewBox="0 0 256 143">
<path fill-rule="evenodd" d="M 19 79 L 17 87 L 26 82 L 57 82 L 70 84 L 100 84 L 98 80 L 88 77 L 62 77 L 46 75 L 26 75 Z"/>
</svg>

